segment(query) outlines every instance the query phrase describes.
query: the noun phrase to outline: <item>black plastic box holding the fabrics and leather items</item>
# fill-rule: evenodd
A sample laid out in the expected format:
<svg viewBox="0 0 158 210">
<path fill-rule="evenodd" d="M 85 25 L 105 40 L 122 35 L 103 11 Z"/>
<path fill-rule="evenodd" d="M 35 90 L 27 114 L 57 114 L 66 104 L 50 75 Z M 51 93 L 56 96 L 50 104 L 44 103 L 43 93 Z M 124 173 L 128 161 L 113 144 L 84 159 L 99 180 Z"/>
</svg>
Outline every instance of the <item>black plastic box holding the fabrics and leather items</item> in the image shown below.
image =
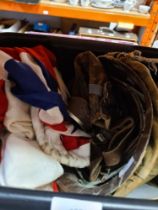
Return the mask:
<svg viewBox="0 0 158 210">
<path fill-rule="evenodd" d="M 127 52 L 140 50 L 144 56 L 158 56 L 158 50 L 156 49 L 134 45 L 114 44 L 110 42 L 88 39 L 76 39 L 72 37 L 58 37 L 57 35 L 42 36 L 11 33 L 0 34 L 0 47 L 33 47 L 39 44 L 46 46 L 55 53 L 58 58 L 57 62 L 59 64 L 59 70 L 67 69 L 65 72 L 62 71 L 62 75 L 66 83 L 68 83 L 69 80 L 73 78 L 74 57 L 79 52 L 85 50 L 91 50 L 95 54 L 101 54 L 110 51 Z M 69 66 L 69 68 L 63 68 L 64 66 Z M 158 210 L 158 201 L 70 193 L 51 193 L 5 187 L 0 187 L 0 210 L 49 210 L 51 200 L 54 196 L 74 198 L 79 201 L 97 201 L 102 203 L 103 210 Z"/>
</svg>

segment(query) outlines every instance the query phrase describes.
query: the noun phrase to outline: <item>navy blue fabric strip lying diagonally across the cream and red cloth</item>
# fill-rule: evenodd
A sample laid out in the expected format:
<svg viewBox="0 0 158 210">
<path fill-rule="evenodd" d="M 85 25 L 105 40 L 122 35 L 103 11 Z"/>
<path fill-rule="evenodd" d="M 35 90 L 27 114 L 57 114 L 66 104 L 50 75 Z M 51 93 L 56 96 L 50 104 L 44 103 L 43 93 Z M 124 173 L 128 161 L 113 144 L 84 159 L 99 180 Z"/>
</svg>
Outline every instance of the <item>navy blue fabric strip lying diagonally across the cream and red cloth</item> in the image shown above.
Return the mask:
<svg viewBox="0 0 158 210">
<path fill-rule="evenodd" d="M 44 110 L 58 106 L 64 118 L 69 118 L 62 97 L 56 90 L 48 91 L 27 64 L 10 59 L 5 63 L 5 69 L 15 83 L 11 91 L 17 98 Z"/>
</svg>

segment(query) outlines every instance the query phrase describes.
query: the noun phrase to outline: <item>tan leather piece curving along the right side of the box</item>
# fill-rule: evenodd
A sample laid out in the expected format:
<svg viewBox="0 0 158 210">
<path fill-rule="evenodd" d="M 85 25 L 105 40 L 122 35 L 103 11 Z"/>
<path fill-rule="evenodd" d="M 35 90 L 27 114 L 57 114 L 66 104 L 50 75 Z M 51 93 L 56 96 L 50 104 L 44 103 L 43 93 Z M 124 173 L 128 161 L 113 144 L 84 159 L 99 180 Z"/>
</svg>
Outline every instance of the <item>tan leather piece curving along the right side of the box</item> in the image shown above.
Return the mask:
<svg viewBox="0 0 158 210">
<path fill-rule="evenodd" d="M 119 60 L 138 74 L 148 88 L 153 104 L 152 133 L 146 150 L 142 152 L 144 158 L 139 162 L 138 167 L 135 168 L 133 175 L 114 194 L 115 196 L 126 196 L 135 188 L 158 175 L 158 59 L 144 58 L 138 51 L 132 53 L 109 53 L 107 57 L 112 61 Z"/>
</svg>

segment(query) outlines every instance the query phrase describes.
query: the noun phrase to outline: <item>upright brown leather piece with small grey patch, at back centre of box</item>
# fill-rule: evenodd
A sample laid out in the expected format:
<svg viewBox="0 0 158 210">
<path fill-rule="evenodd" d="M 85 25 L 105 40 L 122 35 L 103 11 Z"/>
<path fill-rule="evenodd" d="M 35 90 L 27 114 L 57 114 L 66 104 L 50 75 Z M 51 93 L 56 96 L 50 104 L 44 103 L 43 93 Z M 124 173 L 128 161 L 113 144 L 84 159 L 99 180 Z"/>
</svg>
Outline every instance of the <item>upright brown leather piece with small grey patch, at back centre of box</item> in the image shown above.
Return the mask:
<svg viewBox="0 0 158 210">
<path fill-rule="evenodd" d="M 75 59 L 74 65 L 75 79 L 71 93 L 72 99 L 70 100 L 69 110 L 76 115 L 76 117 L 81 119 L 85 128 L 89 128 L 89 126 L 95 123 L 98 119 L 100 120 L 103 118 L 103 121 L 106 120 L 106 117 L 103 117 L 100 110 L 100 95 L 102 95 L 106 75 L 99 59 L 92 52 L 79 54 Z M 97 90 L 95 89 L 96 87 Z M 72 107 L 74 107 L 74 103 L 77 103 L 75 102 L 77 100 L 76 97 L 80 97 L 82 100 L 78 103 L 76 110 L 74 110 Z M 87 101 L 87 105 L 83 99 Z M 79 104 L 81 104 L 81 106 L 84 104 L 83 106 L 85 107 L 85 112 L 87 113 L 86 115 L 83 112 L 80 116 L 78 116 Z M 89 108 L 87 106 L 89 106 Z"/>
</svg>

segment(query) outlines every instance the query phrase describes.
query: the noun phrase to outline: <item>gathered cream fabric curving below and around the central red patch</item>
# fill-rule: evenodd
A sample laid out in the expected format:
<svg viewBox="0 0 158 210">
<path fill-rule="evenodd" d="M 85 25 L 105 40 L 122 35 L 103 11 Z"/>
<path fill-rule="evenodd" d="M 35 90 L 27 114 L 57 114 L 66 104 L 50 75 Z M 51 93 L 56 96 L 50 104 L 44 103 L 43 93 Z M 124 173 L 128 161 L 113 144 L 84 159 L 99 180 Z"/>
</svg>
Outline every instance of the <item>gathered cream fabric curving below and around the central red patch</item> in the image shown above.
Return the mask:
<svg viewBox="0 0 158 210">
<path fill-rule="evenodd" d="M 58 160 L 60 163 L 83 168 L 89 166 L 90 164 L 90 144 L 83 145 L 77 150 L 67 151 L 60 139 L 60 135 L 63 133 L 74 135 L 74 136 L 85 136 L 89 137 L 83 131 L 77 130 L 72 134 L 73 126 L 69 126 L 66 132 L 59 132 L 44 126 L 39 119 L 39 109 L 31 108 L 31 117 L 36 134 L 36 139 L 43 149 L 44 152 L 51 155 L 54 159 Z"/>
</svg>

